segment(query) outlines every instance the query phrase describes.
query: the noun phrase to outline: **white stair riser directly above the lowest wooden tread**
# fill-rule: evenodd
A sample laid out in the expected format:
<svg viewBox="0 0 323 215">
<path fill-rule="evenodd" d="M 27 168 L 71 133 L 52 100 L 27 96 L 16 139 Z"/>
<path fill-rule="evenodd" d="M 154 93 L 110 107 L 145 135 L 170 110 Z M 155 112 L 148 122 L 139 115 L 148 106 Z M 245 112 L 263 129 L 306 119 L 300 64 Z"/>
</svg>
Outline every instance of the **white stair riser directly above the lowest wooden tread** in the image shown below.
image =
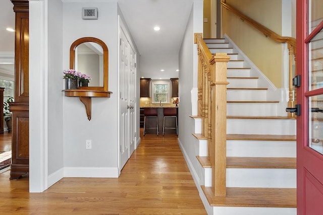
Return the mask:
<svg viewBox="0 0 323 215">
<path fill-rule="evenodd" d="M 296 169 L 227 168 L 227 187 L 296 188 Z"/>
</svg>

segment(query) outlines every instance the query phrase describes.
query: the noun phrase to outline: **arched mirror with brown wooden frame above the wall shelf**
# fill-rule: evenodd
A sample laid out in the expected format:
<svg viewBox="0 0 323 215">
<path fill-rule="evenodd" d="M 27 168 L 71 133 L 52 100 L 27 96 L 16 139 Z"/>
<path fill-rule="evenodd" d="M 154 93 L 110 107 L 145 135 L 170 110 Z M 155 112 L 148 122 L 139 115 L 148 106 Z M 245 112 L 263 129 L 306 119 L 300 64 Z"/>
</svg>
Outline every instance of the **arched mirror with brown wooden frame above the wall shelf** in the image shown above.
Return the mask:
<svg viewBox="0 0 323 215">
<path fill-rule="evenodd" d="M 83 90 L 108 91 L 108 55 L 105 43 L 94 37 L 74 41 L 70 48 L 70 68 L 89 75 L 91 80 Z"/>
</svg>

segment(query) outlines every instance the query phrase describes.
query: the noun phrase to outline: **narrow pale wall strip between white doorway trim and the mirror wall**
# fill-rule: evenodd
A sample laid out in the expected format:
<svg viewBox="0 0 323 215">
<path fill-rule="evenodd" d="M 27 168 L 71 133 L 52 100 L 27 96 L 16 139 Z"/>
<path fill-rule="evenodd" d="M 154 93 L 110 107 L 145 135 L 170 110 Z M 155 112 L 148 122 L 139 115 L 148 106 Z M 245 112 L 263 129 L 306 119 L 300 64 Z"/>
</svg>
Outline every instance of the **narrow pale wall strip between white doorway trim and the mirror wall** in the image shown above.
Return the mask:
<svg viewBox="0 0 323 215">
<path fill-rule="evenodd" d="M 63 4 L 48 1 L 48 175 L 63 168 Z"/>
</svg>

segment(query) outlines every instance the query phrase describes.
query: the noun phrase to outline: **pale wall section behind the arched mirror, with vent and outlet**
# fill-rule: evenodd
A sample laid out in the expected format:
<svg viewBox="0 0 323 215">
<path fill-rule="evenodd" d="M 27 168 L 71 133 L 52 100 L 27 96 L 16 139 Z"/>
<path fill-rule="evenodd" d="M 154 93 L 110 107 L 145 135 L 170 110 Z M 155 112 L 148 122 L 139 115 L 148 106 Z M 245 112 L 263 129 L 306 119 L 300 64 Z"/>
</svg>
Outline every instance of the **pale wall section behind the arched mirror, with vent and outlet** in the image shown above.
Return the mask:
<svg viewBox="0 0 323 215">
<path fill-rule="evenodd" d="M 82 20 L 82 8 L 98 9 L 97 20 Z M 63 4 L 63 67 L 69 68 L 70 45 L 81 37 L 96 37 L 109 48 L 111 98 L 92 98 L 92 119 L 87 120 L 79 98 L 63 97 L 64 175 L 118 177 L 117 169 L 117 2 Z M 62 89 L 64 88 L 61 79 Z M 85 140 L 92 149 L 85 149 Z"/>
</svg>

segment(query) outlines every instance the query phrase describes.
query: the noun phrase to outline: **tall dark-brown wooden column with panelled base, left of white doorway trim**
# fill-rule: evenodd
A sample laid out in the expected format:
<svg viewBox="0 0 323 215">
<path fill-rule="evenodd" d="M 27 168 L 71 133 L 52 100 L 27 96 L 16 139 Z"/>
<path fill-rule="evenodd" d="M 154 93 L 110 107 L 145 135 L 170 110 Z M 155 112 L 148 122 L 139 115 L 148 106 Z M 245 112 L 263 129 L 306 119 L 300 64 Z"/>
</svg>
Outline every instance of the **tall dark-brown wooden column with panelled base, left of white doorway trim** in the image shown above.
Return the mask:
<svg viewBox="0 0 323 215">
<path fill-rule="evenodd" d="M 29 172 L 29 1 L 11 0 L 16 14 L 15 102 L 13 113 L 10 179 Z"/>
</svg>

